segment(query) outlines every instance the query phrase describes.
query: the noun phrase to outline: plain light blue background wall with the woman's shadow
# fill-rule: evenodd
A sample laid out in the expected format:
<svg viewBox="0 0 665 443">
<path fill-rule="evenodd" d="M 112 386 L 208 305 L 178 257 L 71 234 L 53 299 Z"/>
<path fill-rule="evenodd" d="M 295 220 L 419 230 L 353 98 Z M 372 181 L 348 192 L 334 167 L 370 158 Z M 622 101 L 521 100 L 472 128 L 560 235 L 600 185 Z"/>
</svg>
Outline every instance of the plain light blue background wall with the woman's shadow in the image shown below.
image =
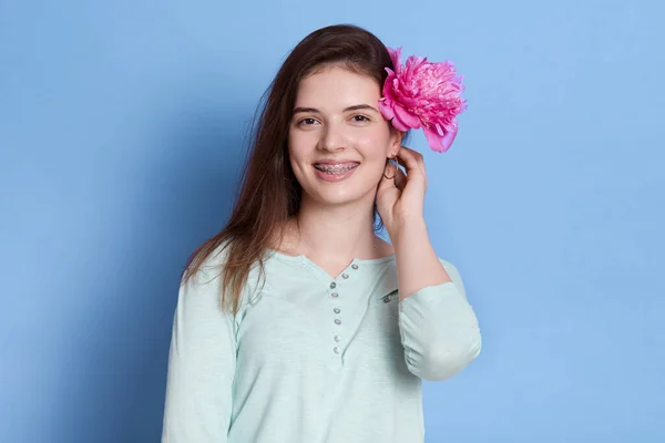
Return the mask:
<svg viewBox="0 0 665 443">
<path fill-rule="evenodd" d="M 452 59 L 427 222 L 483 352 L 427 442 L 665 441 L 656 1 L 0 2 L 2 442 L 157 442 L 180 272 L 287 52 L 350 22 Z"/>
</svg>

